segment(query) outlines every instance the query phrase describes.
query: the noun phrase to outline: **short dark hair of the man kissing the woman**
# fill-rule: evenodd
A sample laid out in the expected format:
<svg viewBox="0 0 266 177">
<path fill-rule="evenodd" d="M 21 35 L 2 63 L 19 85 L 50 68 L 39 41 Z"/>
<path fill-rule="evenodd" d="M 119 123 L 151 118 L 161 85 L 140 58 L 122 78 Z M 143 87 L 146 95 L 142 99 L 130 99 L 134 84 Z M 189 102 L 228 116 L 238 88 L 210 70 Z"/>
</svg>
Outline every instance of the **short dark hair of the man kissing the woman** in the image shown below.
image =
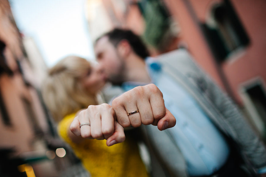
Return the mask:
<svg viewBox="0 0 266 177">
<path fill-rule="evenodd" d="M 135 35 L 131 30 L 123 30 L 119 28 L 115 28 L 110 32 L 107 32 L 100 36 L 96 41 L 100 40 L 102 37 L 107 36 L 109 41 L 117 47 L 119 42 L 123 39 L 127 40 L 129 42 L 129 45 L 132 47 L 134 52 L 140 56 L 141 58 L 145 59 L 146 57 L 150 56 L 150 53 L 144 44 L 142 42 L 141 38 L 138 35 Z"/>
</svg>

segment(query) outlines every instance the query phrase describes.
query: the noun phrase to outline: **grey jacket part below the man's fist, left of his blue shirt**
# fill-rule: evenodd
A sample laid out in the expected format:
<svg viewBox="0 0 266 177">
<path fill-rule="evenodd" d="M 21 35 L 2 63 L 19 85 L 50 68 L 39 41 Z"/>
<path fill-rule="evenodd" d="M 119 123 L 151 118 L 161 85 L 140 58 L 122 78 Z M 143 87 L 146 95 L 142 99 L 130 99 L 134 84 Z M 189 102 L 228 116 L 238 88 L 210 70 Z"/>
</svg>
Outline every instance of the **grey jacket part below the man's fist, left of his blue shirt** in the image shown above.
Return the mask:
<svg viewBox="0 0 266 177">
<path fill-rule="evenodd" d="M 153 177 L 188 176 L 183 155 L 167 130 L 159 131 L 153 125 L 142 125 L 141 130 L 149 148 Z"/>
</svg>

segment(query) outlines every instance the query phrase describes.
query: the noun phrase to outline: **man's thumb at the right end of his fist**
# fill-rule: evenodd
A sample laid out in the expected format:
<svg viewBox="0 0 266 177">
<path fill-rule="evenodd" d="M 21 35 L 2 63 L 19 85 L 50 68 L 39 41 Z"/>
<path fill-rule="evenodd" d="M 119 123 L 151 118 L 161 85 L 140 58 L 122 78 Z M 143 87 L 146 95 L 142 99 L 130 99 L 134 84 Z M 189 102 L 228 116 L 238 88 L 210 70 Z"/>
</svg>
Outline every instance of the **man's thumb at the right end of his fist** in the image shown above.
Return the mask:
<svg viewBox="0 0 266 177">
<path fill-rule="evenodd" d="M 162 131 L 171 128 L 175 125 L 176 125 L 176 118 L 168 109 L 166 109 L 165 116 L 162 119 L 160 119 L 157 124 L 158 129 Z"/>
</svg>

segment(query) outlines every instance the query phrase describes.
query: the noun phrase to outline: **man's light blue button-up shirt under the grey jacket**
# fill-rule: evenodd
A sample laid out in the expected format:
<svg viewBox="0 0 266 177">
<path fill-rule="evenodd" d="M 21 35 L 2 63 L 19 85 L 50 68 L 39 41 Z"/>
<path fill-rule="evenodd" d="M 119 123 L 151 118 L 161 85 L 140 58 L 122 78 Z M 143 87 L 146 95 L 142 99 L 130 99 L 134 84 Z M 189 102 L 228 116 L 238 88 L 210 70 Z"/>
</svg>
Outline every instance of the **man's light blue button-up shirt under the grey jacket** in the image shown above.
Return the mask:
<svg viewBox="0 0 266 177">
<path fill-rule="evenodd" d="M 210 175 L 220 169 L 229 155 L 229 147 L 219 130 L 202 111 L 195 99 L 148 58 L 147 70 L 153 83 L 163 93 L 166 108 L 176 118 L 168 131 L 184 155 L 190 176 Z M 126 91 L 141 83 L 126 82 Z"/>
</svg>

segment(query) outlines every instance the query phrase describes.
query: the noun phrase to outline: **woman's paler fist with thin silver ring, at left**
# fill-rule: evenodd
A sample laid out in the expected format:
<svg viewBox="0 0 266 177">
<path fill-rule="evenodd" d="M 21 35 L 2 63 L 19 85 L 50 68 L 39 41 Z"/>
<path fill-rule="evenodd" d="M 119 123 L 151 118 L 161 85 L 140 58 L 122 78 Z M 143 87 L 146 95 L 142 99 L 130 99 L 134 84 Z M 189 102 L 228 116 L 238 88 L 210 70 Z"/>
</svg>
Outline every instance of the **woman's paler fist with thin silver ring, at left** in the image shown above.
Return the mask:
<svg viewBox="0 0 266 177">
<path fill-rule="evenodd" d="M 74 135 L 82 138 L 106 139 L 108 146 L 125 140 L 124 128 L 116 122 L 116 114 L 109 104 L 90 105 L 74 118 L 70 130 Z"/>
</svg>

